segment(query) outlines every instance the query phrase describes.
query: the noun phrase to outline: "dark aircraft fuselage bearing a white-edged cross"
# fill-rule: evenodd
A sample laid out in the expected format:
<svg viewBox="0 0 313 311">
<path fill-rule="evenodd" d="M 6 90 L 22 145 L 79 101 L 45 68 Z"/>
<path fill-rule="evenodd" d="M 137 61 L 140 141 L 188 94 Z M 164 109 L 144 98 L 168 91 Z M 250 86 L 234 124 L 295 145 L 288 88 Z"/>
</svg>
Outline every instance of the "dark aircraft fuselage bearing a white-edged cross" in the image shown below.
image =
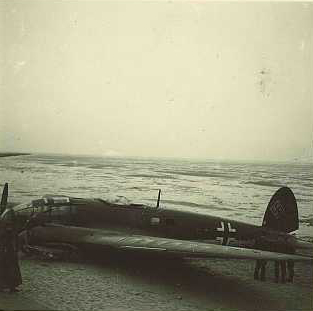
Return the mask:
<svg viewBox="0 0 313 311">
<path fill-rule="evenodd" d="M 232 246 L 253 245 L 262 229 L 251 224 L 190 211 L 155 209 L 134 204 L 118 205 L 94 199 L 81 200 L 78 204 L 67 206 L 43 208 L 48 209 L 48 212 L 39 218 L 46 222 L 111 228 L 116 231 L 132 230 L 143 235 L 206 240 L 209 243 Z"/>
</svg>

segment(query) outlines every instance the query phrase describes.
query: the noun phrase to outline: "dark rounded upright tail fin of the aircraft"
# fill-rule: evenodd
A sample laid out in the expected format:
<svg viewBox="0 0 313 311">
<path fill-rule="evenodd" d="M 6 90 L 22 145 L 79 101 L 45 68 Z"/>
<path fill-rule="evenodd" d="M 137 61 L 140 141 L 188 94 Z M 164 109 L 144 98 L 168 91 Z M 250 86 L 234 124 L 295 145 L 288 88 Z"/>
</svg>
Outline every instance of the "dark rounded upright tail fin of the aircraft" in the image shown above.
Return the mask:
<svg viewBox="0 0 313 311">
<path fill-rule="evenodd" d="M 262 226 L 286 233 L 299 229 L 297 201 L 290 188 L 282 187 L 272 196 Z"/>
</svg>

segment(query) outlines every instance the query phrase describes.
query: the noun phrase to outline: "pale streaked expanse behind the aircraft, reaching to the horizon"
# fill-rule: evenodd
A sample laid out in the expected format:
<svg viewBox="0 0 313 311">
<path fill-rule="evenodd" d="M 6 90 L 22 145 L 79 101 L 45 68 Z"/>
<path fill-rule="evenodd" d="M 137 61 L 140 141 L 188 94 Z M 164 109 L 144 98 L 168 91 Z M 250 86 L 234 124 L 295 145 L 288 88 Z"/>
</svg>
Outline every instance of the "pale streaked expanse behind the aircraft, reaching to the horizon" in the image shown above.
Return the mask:
<svg viewBox="0 0 313 311">
<path fill-rule="evenodd" d="M 9 201 L 44 194 L 95 197 L 115 203 L 192 210 L 261 225 L 281 186 L 297 199 L 297 236 L 313 239 L 313 164 L 32 154 L 0 158 Z"/>
</svg>

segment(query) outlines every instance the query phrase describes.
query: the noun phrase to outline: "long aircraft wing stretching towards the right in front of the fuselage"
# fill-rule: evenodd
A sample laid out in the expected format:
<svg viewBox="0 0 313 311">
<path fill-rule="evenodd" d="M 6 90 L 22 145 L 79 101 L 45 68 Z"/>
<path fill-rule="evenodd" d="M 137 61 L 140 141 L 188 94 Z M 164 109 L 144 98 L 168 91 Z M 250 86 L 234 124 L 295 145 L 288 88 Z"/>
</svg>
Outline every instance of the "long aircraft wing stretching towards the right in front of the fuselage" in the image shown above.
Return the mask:
<svg viewBox="0 0 313 311">
<path fill-rule="evenodd" d="M 312 262 L 312 258 L 299 255 L 73 226 L 38 226 L 31 230 L 31 236 L 34 241 L 40 243 L 60 242 L 78 247 L 87 246 L 98 247 L 99 249 L 109 248 L 132 252 L 159 253 L 176 257 L 253 260 L 291 259 Z"/>
</svg>

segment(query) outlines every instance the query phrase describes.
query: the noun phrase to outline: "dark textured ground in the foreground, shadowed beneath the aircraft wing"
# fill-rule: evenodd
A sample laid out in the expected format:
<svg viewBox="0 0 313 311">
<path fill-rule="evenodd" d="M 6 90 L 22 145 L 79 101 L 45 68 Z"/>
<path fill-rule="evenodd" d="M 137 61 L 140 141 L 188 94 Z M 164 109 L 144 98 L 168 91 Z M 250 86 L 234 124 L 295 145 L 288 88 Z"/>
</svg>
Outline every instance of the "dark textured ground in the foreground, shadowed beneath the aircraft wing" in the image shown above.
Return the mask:
<svg viewBox="0 0 313 311">
<path fill-rule="evenodd" d="M 253 280 L 254 262 L 247 260 L 110 256 L 71 262 L 24 258 L 20 263 L 21 292 L 0 293 L 0 302 L 17 295 L 42 310 L 291 311 L 313 306 L 310 264 L 296 264 L 293 284 L 276 284 L 273 263 L 268 263 L 267 281 L 259 282 Z M 15 307 L 21 309 L 18 302 Z"/>
</svg>

